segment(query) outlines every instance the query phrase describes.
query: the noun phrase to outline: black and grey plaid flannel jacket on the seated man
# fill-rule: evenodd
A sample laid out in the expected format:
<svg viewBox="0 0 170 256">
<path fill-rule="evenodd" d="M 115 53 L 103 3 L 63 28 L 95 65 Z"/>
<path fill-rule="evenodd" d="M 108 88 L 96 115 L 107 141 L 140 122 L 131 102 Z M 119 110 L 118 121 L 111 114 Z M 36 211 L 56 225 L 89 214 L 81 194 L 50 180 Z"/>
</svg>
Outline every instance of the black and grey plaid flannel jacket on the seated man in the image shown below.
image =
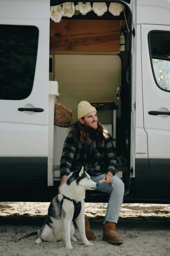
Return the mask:
<svg viewBox="0 0 170 256">
<path fill-rule="evenodd" d="M 84 171 L 87 171 L 88 161 L 92 166 L 92 175 L 112 172 L 115 175 L 117 167 L 116 153 L 111 136 L 106 140 L 92 139 L 91 158 L 87 159 L 86 144 L 74 140 L 73 132 L 70 131 L 64 142 L 63 152 L 60 161 L 60 178 L 69 175 L 70 172 L 79 170 L 82 165 Z"/>
</svg>

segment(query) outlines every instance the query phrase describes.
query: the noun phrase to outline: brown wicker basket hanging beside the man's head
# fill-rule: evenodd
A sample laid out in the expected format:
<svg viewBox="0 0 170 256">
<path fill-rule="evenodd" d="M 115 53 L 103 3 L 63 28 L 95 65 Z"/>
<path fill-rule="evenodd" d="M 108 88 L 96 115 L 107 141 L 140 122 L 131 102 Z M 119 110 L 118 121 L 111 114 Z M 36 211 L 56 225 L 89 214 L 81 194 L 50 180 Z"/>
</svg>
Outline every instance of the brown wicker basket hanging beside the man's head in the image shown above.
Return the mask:
<svg viewBox="0 0 170 256">
<path fill-rule="evenodd" d="M 54 124 L 59 127 L 70 127 L 72 124 L 72 111 L 60 103 L 56 96 L 57 103 L 55 107 Z"/>
</svg>

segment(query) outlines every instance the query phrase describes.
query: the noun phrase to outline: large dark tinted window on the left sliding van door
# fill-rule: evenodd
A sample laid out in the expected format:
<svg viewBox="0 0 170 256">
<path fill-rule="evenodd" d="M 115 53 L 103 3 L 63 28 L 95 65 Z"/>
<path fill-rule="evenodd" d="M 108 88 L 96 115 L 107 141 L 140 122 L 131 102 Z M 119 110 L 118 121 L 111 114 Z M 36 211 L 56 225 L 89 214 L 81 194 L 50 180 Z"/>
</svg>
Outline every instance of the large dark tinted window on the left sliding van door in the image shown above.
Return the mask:
<svg viewBox="0 0 170 256">
<path fill-rule="evenodd" d="M 35 26 L 0 25 L 0 99 L 21 100 L 31 94 L 38 34 Z"/>
</svg>

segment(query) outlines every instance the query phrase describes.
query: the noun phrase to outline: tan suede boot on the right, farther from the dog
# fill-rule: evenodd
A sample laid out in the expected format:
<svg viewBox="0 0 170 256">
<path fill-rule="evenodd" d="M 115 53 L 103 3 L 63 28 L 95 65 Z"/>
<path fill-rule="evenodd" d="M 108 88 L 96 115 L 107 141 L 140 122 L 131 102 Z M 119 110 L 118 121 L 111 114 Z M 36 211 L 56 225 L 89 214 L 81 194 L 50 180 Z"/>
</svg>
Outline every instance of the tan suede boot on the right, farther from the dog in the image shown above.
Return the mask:
<svg viewBox="0 0 170 256">
<path fill-rule="evenodd" d="M 115 231 L 116 225 L 113 222 L 103 223 L 103 241 L 112 244 L 123 243 L 123 239 Z"/>
</svg>

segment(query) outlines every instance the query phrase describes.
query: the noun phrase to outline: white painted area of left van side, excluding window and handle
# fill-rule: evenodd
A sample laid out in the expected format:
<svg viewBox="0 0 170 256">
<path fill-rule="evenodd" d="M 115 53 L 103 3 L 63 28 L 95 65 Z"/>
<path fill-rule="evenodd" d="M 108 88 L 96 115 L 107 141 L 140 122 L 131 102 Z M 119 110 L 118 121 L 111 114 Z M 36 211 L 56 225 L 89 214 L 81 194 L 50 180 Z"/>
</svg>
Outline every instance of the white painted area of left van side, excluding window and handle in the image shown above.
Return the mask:
<svg viewBox="0 0 170 256">
<path fill-rule="evenodd" d="M 39 6 L 41 11 L 38 11 Z M 23 100 L 0 100 L 0 109 L 3 110 L 0 114 L 0 156 L 47 157 L 50 1 L 1 1 L 1 7 L 3 8 L 0 9 L 0 17 L 4 15 L 6 17 L 6 19 L 0 19 L 1 24 L 36 26 L 39 30 L 39 38 L 31 94 Z M 16 16 L 12 11 L 14 7 Z M 38 16 L 38 13 L 41 15 Z M 16 17 L 18 19 L 15 19 Z M 40 18 L 42 20 L 38 20 Z M 42 108 L 44 111 L 18 111 L 18 108 L 24 106 Z"/>
</svg>

